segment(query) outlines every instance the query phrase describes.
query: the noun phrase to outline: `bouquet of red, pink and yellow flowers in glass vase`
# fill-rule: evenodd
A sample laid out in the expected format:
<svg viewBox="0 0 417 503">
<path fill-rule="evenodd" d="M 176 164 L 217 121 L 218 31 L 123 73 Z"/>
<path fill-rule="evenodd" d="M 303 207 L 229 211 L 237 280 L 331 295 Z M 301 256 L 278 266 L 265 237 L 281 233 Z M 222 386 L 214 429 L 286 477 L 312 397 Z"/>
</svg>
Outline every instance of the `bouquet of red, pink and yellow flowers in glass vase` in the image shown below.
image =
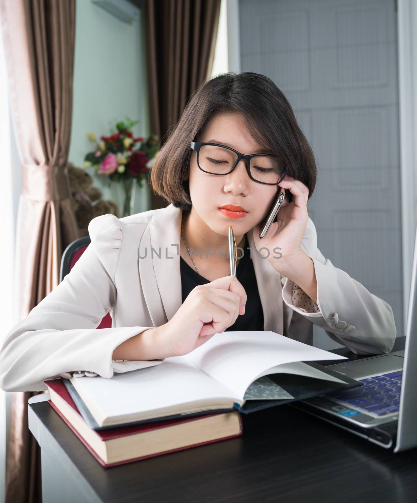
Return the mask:
<svg viewBox="0 0 417 503">
<path fill-rule="evenodd" d="M 84 167 L 93 166 L 97 175 L 107 177 L 111 182 L 121 182 L 125 190 L 122 216 L 133 212 L 136 186 L 142 187 L 142 181 L 149 177 L 150 168 L 158 152 L 158 137 L 151 135 L 147 140 L 141 136 L 135 138 L 132 127 L 138 121 L 126 117 L 126 121 L 116 124 L 117 132 L 111 136 L 89 134 L 95 144 L 93 151 L 84 158 Z"/>
</svg>

